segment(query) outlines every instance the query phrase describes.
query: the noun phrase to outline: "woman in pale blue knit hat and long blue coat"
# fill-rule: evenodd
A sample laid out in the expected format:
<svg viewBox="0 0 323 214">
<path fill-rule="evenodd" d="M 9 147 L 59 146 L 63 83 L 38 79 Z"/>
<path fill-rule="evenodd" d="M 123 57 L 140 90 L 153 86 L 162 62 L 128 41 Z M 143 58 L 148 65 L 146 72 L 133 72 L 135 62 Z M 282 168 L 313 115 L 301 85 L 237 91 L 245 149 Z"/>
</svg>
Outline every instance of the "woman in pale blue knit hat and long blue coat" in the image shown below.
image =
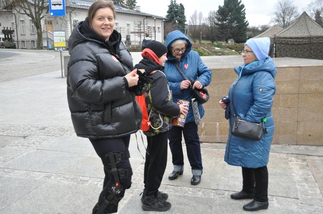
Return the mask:
<svg viewBox="0 0 323 214">
<path fill-rule="evenodd" d="M 232 194 L 231 198 L 252 199 L 243 206 L 246 211 L 267 209 L 269 205 L 267 164 L 274 132 L 271 107 L 276 91 L 274 78 L 277 73 L 274 62 L 268 56 L 269 46 L 268 37 L 249 39 L 246 42 L 242 52 L 244 64 L 234 68 L 238 78 L 231 85 L 229 96 L 219 101 L 220 106 L 230 115 L 224 161 L 229 165 L 242 167 L 242 190 Z M 267 133 L 264 133 L 262 139 L 254 141 L 231 134 L 232 99 L 237 116 L 248 122 L 265 122 Z"/>
</svg>

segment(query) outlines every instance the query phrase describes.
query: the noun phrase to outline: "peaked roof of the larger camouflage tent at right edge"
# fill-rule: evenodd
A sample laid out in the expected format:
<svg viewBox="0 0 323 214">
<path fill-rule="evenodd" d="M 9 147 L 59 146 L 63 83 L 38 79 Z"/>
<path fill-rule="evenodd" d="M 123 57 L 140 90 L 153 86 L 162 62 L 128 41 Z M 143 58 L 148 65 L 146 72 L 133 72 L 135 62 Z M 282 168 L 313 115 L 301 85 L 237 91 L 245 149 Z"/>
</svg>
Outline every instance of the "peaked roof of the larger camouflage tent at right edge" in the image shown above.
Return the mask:
<svg viewBox="0 0 323 214">
<path fill-rule="evenodd" d="M 306 12 L 299 16 L 287 28 L 277 33 L 280 37 L 323 35 L 323 28 L 316 23 Z"/>
</svg>

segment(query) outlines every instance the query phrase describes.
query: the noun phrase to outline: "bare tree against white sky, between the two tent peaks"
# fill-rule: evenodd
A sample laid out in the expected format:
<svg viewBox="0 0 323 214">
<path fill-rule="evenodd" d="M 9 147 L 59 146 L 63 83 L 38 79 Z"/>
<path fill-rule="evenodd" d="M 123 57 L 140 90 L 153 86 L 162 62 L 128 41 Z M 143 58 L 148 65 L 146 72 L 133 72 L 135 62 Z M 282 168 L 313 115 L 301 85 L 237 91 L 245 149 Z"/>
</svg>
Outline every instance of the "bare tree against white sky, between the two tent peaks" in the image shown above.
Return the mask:
<svg viewBox="0 0 323 214">
<path fill-rule="evenodd" d="M 299 16 L 293 0 L 279 0 L 276 4 L 274 17 L 271 23 L 286 28 L 292 21 Z"/>
</svg>

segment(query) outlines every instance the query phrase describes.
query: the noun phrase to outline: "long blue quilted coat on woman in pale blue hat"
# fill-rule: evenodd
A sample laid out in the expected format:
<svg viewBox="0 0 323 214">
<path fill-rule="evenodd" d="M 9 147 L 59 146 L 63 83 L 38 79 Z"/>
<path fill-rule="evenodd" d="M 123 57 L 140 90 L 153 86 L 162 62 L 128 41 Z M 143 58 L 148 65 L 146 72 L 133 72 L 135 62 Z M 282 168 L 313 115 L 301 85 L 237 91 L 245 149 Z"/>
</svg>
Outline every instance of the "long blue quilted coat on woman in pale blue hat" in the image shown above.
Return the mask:
<svg viewBox="0 0 323 214">
<path fill-rule="evenodd" d="M 258 168 L 268 164 L 269 150 L 274 132 L 274 120 L 271 115 L 273 95 L 276 91 L 274 78 L 276 66 L 268 57 L 265 60 L 255 61 L 247 66 L 238 66 L 234 71 L 238 77 L 230 87 L 230 120 L 229 137 L 226 145 L 224 161 L 230 165 Z M 249 122 L 259 123 L 264 117 L 267 132 L 259 141 L 237 137 L 231 134 L 233 124 L 233 101 L 236 114 Z"/>
</svg>

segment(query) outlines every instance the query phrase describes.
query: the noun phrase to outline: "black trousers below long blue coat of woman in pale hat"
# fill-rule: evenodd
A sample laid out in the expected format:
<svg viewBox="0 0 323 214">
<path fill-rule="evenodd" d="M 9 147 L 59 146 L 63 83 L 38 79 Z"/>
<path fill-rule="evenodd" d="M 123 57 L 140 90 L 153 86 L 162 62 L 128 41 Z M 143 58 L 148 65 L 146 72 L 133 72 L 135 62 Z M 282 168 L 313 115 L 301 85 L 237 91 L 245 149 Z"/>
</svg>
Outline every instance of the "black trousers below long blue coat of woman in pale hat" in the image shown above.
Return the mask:
<svg viewBox="0 0 323 214">
<path fill-rule="evenodd" d="M 268 169 L 267 166 L 259 168 L 242 167 L 242 191 L 254 193 L 254 200 L 268 201 Z"/>
</svg>

